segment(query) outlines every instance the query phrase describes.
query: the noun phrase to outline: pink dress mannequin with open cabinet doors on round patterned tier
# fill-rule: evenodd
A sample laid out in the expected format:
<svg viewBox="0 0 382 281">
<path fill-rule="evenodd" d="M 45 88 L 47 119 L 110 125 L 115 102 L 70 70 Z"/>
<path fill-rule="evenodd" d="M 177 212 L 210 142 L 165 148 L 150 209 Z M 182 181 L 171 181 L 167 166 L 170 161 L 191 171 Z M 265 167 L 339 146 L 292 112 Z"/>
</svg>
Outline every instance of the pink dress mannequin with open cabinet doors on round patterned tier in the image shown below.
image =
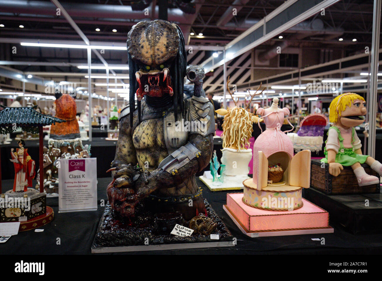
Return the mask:
<svg viewBox="0 0 382 281">
<path fill-rule="evenodd" d="M 285 116 L 290 114 L 285 107 L 278 108 L 278 98 L 272 106 L 257 109 L 262 115 L 267 129 L 257 137 L 253 145 L 253 179 L 243 182 L 243 202 L 251 207 L 263 210 L 296 210 L 303 206 L 302 189 L 310 184 L 309 150 L 303 150 L 293 156 L 293 143 L 282 132 L 281 125 Z M 289 122 L 289 121 L 288 121 Z M 270 166 L 282 168 L 281 179 L 272 180 Z"/>
</svg>

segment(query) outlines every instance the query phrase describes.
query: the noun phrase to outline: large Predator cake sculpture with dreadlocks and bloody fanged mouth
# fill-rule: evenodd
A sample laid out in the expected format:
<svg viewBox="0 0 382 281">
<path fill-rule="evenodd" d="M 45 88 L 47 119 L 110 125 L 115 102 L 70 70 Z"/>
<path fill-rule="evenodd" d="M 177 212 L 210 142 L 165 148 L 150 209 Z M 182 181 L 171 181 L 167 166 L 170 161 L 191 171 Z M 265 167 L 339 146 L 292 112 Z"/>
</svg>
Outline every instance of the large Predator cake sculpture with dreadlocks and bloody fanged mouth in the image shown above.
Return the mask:
<svg viewBox="0 0 382 281">
<path fill-rule="evenodd" d="M 187 70 L 194 89 L 184 89 L 185 42 L 179 27 L 167 21 L 136 24 L 127 47 L 129 106 L 119 118 L 110 169 L 115 174 L 107 187 L 111 208 L 105 210 L 94 245 L 142 245 L 144 237 L 160 244 L 159 234 L 167 235 L 165 243 L 207 241 L 211 232 L 220 240 L 231 237 L 195 179 L 211 159 L 215 132 L 202 67 Z M 175 223 L 193 228 L 193 235 L 170 235 Z"/>
</svg>

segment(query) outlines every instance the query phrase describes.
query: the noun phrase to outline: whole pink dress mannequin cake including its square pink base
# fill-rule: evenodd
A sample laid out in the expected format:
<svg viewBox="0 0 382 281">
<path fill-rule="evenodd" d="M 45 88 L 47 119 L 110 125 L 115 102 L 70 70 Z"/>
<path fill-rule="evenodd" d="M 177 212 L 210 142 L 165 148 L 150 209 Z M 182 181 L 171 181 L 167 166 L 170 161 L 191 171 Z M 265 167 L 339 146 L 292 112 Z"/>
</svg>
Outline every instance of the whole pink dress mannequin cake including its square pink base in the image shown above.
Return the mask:
<svg viewBox="0 0 382 281">
<path fill-rule="evenodd" d="M 223 208 L 241 231 L 254 237 L 333 232 L 329 214 L 302 198 L 310 186 L 311 151 L 293 156 L 293 143 L 282 132 L 290 112 L 272 105 L 257 109 L 266 130 L 253 146 L 253 179 L 244 180 L 244 193 L 228 193 Z"/>
</svg>

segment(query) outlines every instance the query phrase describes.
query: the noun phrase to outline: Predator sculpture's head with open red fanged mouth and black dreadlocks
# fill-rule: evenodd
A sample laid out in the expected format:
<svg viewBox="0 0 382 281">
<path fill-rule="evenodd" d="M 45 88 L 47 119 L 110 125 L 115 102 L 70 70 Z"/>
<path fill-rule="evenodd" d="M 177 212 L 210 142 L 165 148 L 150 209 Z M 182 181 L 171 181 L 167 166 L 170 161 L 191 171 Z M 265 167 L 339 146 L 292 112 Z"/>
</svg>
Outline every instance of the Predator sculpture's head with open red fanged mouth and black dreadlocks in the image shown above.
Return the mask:
<svg viewBox="0 0 382 281">
<path fill-rule="evenodd" d="M 183 79 L 187 57 L 180 28 L 164 20 L 141 21 L 134 25 L 127 39 L 129 60 L 129 104 L 135 108 L 135 95 L 150 106 L 173 104 L 183 112 Z M 139 118 L 141 117 L 140 114 Z M 175 117 L 177 110 L 175 110 Z M 130 114 L 133 123 L 133 114 Z"/>
</svg>

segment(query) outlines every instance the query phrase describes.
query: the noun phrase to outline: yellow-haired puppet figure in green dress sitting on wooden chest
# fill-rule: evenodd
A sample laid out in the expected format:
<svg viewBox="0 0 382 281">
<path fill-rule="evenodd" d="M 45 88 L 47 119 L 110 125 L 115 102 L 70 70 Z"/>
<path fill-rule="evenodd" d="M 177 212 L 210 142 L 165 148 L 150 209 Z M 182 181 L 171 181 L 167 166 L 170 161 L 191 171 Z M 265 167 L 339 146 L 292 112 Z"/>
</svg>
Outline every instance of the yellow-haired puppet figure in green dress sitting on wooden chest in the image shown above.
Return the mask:
<svg viewBox="0 0 382 281">
<path fill-rule="evenodd" d="M 362 96 L 345 93 L 335 97 L 329 107 L 329 121 L 333 125 L 327 133 L 325 158 L 321 159 L 321 162 L 329 163 L 329 173 L 335 177 L 343 166 L 351 166 L 359 186 L 379 184 L 379 178 L 366 174 L 361 164 L 368 164 L 382 176 L 382 164 L 362 154 L 361 140 L 354 129 L 364 122 L 365 115 L 366 102 Z"/>
</svg>

